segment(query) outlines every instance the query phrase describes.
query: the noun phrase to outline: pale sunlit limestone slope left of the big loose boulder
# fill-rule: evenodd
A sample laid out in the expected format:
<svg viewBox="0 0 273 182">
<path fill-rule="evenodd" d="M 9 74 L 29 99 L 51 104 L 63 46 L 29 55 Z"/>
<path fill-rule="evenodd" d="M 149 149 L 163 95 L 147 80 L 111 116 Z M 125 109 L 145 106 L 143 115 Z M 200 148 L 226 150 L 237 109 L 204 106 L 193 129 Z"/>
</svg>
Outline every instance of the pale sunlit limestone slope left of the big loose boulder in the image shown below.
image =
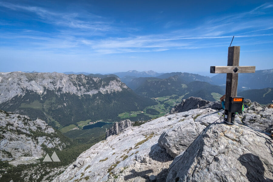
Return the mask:
<svg viewBox="0 0 273 182">
<path fill-rule="evenodd" d="M 206 113 L 213 114 L 215 110 L 196 109 L 162 116 L 127 128 L 119 135 L 111 135 L 82 153 L 53 182 L 83 180 L 87 176 L 88 181 L 144 182 L 149 181 L 151 175 L 156 176 L 158 182 L 164 182 L 173 158 L 160 147 L 159 137 L 167 130 L 187 124 L 181 120 L 194 122 L 197 115 L 198 118 Z M 74 168 L 73 164 L 78 162 L 82 166 Z"/>
</svg>

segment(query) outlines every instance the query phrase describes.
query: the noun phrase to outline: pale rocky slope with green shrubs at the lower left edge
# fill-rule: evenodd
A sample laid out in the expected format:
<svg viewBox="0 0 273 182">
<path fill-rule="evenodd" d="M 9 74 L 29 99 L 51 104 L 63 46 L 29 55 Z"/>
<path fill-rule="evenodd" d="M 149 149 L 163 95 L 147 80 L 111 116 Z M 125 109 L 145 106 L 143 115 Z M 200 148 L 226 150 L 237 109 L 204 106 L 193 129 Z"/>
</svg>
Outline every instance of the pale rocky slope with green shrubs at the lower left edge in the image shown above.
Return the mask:
<svg viewBox="0 0 273 182">
<path fill-rule="evenodd" d="M 14 160 L 20 156 L 42 157 L 46 147 L 62 150 L 68 142 L 62 141 L 45 121 L 32 121 L 28 116 L 0 110 L 0 159 Z"/>
</svg>

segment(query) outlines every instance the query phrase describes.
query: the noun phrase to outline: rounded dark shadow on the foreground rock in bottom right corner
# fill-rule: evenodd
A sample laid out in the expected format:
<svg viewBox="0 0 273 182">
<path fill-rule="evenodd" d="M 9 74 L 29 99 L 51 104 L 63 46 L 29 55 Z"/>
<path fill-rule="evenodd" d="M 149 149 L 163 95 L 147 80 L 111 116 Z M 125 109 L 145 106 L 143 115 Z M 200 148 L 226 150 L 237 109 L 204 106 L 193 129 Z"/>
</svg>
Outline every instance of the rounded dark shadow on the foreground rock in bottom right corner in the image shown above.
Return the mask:
<svg viewBox="0 0 273 182">
<path fill-rule="evenodd" d="M 265 167 L 260 160 L 260 157 L 253 155 L 252 153 L 246 153 L 241 155 L 238 160 L 246 168 L 246 177 L 251 182 L 273 182 L 273 180 L 264 177 Z"/>
</svg>

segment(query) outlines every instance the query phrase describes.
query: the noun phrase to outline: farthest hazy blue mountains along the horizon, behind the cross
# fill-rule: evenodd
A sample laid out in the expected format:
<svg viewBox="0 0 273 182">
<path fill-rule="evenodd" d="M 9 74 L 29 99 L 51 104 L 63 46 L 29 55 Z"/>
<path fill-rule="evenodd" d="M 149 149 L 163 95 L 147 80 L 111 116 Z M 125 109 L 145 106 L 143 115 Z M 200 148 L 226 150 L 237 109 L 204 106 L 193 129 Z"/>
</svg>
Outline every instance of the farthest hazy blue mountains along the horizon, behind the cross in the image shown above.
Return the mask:
<svg viewBox="0 0 273 182">
<path fill-rule="evenodd" d="M 140 77 L 149 77 L 147 79 L 159 78 L 167 79 L 171 76 L 179 75 L 184 77 L 185 81 L 203 81 L 211 83 L 213 85 L 224 86 L 226 84 L 226 74 L 217 74 L 213 77 L 201 76 L 199 74 L 182 73 L 182 72 L 171 72 L 171 73 L 157 73 L 152 70 L 139 72 L 136 70 L 130 70 L 127 72 L 116 72 L 113 74 L 90 74 L 87 72 L 65 72 L 66 74 L 86 74 L 90 76 L 95 76 L 99 78 L 105 78 L 109 76 L 119 77 L 120 80 L 129 86 L 131 89 L 138 88 L 145 79 Z M 140 78 L 140 80 L 134 80 Z M 263 89 L 267 87 L 272 87 L 273 85 L 273 69 L 257 70 L 255 73 L 243 73 L 239 74 L 238 79 L 238 91 L 243 91 L 247 89 Z"/>
</svg>

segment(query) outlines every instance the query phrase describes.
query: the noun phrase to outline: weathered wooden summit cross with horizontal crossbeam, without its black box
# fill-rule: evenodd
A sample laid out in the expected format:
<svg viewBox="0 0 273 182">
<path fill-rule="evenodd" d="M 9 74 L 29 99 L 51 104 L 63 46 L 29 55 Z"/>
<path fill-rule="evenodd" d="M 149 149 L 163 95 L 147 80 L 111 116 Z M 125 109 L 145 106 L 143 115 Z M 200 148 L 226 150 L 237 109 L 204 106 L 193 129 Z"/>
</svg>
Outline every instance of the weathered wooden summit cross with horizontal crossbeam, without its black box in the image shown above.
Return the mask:
<svg viewBox="0 0 273 182">
<path fill-rule="evenodd" d="M 240 46 L 228 48 L 227 66 L 211 66 L 211 73 L 227 73 L 225 118 L 229 123 L 234 123 L 234 113 L 228 112 L 229 97 L 237 97 L 238 73 L 254 73 L 255 66 L 239 66 Z"/>
</svg>

